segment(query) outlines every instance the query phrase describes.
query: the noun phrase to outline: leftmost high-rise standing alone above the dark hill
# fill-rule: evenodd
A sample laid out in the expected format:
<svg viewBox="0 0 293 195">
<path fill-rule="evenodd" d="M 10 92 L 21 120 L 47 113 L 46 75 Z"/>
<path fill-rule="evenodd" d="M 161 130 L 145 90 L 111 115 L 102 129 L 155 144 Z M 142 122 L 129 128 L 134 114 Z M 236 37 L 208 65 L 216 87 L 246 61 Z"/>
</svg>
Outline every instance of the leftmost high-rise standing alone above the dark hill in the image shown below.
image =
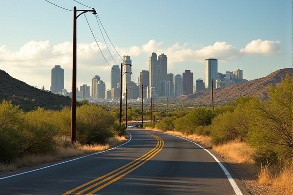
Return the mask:
<svg viewBox="0 0 293 195">
<path fill-rule="evenodd" d="M 62 94 L 64 88 L 64 69 L 60 65 L 56 65 L 51 70 L 51 87 L 53 94 Z"/>
</svg>

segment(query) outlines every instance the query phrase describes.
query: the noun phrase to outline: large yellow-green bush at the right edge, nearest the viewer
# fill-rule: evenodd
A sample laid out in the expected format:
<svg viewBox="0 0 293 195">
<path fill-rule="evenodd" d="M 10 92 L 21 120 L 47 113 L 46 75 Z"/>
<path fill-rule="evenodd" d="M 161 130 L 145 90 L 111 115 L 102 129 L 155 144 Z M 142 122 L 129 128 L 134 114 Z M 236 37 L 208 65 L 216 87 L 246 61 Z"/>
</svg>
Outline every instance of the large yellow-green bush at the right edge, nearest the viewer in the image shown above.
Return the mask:
<svg viewBox="0 0 293 195">
<path fill-rule="evenodd" d="M 271 87 L 268 101 L 252 101 L 250 120 L 251 145 L 264 154 L 276 154 L 279 163 L 292 163 L 293 76 L 287 75 L 275 88 Z"/>
</svg>

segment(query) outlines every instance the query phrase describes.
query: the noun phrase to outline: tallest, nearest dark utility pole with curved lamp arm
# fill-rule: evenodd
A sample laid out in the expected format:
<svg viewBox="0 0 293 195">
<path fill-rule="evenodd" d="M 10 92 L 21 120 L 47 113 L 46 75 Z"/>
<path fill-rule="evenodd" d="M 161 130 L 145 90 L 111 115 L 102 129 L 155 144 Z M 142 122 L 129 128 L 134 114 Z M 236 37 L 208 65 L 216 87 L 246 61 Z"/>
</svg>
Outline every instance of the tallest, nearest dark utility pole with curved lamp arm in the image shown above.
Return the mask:
<svg viewBox="0 0 293 195">
<path fill-rule="evenodd" d="M 76 16 L 77 12 L 82 12 Z M 73 51 L 72 51 L 72 93 L 71 93 L 71 143 L 75 142 L 76 138 L 76 20 L 77 18 L 86 13 L 93 12 L 97 14 L 94 8 L 91 10 L 76 10 L 76 6 L 73 7 Z"/>
</svg>

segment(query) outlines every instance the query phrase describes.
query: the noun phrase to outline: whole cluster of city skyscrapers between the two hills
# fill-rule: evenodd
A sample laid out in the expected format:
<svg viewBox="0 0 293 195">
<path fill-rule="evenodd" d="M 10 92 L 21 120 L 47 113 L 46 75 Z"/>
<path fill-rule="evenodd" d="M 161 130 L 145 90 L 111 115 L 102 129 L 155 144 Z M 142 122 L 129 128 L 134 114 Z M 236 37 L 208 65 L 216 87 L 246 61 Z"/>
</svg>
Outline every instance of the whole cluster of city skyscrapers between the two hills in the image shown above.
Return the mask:
<svg viewBox="0 0 293 195">
<path fill-rule="evenodd" d="M 110 88 L 106 90 L 105 82 L 96 75 L 91 79 L 91 86 L 83 84 L 77 88 L 78 99 L 119 99 L 120 80 L 122 75 L 122 97 L 127 99 L 178 97 L 189 95 L 210 88 L 227 87 L 235 83 L 244 82 L 242 70 L 226 71 L 226 74 L 218 72 L 217 59 L 205 59 L 205 78 L 196 79 L 193 86 L 193 73 L 185 70 L 184 73 L 173 75 L 167 73 L 167 56 L 163 53 L 157 56 L 152 53 L 149 57 L 149 70 L 142 70 L 137 83 L 131 80 L 132 60 L 130 56 L 123 56 L 123 63 L 113 65 L 110 72 Z M 64 89 L 64 70 L 56 65 L 51 70 L 50 91 L 71 97 L 71 92 Z"/>
</svg>

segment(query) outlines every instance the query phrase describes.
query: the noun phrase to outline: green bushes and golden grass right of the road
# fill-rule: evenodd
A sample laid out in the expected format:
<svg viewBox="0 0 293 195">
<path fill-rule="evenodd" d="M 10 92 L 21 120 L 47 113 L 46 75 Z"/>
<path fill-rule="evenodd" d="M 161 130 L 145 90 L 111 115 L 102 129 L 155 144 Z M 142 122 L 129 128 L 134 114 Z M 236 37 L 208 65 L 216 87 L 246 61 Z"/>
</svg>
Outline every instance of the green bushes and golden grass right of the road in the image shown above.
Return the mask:
<svg viewBox="0 0 293 195">
<path fill-rule="evenodd" d="M 259 183 L 293 194 L 293 76 L 268 91 L 268 100 L 240 97 L 212 111 L 176 111 L 144 127 L 187 137 L 241 163 Z M 180 111 L 181 112 L 181 111 Z M 209 137 L 209 139 L 207 139 Z M 203 141 L 205 140 L 205 141 Z M 208 141 L 207 141 L 208 140 Z"/>
</svg>

